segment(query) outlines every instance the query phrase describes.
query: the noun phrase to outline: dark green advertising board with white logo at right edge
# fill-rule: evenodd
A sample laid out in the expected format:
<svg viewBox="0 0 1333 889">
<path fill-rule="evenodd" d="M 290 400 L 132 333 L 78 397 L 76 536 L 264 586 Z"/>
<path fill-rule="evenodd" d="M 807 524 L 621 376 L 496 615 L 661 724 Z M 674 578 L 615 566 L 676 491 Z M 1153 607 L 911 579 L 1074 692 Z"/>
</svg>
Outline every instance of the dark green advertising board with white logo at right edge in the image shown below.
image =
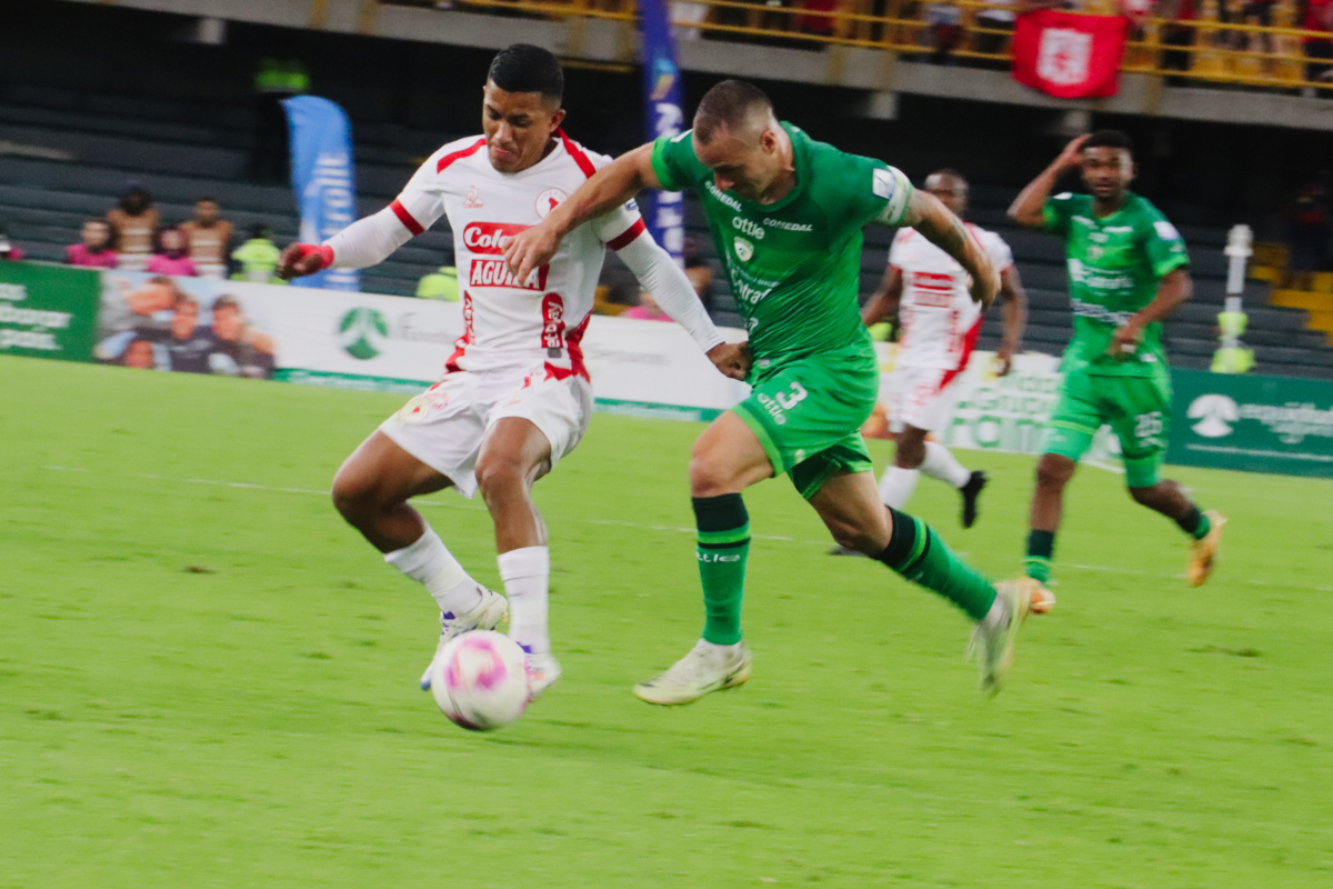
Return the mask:
<svg viewBox="0 0 1333 889">
<path fill-rule="evenodd" d="M 1166 461 L 1333 476 L 1333 381 L 1174 371 Z"/>
</svg>

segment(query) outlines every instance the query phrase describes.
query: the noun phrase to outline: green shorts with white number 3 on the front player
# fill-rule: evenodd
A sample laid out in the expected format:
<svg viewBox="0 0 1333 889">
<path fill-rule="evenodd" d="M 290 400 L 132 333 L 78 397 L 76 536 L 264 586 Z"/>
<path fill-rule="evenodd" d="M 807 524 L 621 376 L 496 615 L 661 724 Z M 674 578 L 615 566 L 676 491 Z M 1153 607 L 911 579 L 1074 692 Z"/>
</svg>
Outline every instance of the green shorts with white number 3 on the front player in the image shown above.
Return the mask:
<svg viewBox="0 0 1333 889">
<path fill-rule="evenodd" d="M 750 385 L 732 411 L 764 445 L 773 473 L 790 474 L 802 497 L 834 473 L 873 470 L 861 425 L 874 411 L 880 368 L 868 347 L 785 361 Z"/>
</svg>

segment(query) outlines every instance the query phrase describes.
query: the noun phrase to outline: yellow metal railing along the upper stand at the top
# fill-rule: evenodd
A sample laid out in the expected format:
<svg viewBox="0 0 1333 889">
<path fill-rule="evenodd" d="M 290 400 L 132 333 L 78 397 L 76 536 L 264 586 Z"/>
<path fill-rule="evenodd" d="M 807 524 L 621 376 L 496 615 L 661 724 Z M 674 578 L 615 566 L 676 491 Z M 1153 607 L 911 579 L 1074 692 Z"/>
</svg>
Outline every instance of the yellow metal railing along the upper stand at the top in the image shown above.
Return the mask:
<svg viewBox="0 0 1333 889">
<path fill-rule="evenodd" d="M 435 0 L 364 0 L 369 5 L 439 5 Z M 1114 4 L 1112 4 L 1114 5 Z M 1220 12 L 1202 0 L 1196 17 L 1130 17 L 1121 71 L 1157 75 L 1193 85 L 1237 84 L 1333 97 L 1333 29 L 1293 27 L 1296 0 L 1278 0 L 1270 25 L 1244 12 Z M 1246 4 L 1245 9 L 1264 4 Z M 635 20 L 635 0 L 453 0 L 453 9 L 543 19 Z M 994 27 L 996 13 L 1018 4 L 985 0 L 676 0 L 673 24 L 685 39 L 821 44 L 884 49 L 902 56 L 938 56 L 964 65 L 1008 68 L 1012 31 Z M 940 11 L 952 21 L 929 20 Z M 1082 15 L 1082 13 L 1080 13 Z M 1233 19 L 1234 16 L 1234 19 Z M 1232 20 L 1224 20 L 1232 19 Z M 1333 27 L 1333 25 L 1330 25 Z M 949 45 L 936 44 L 944 37 Z M 1312 55 L 1313 53 L 1313 55 Z"/>
</svg>

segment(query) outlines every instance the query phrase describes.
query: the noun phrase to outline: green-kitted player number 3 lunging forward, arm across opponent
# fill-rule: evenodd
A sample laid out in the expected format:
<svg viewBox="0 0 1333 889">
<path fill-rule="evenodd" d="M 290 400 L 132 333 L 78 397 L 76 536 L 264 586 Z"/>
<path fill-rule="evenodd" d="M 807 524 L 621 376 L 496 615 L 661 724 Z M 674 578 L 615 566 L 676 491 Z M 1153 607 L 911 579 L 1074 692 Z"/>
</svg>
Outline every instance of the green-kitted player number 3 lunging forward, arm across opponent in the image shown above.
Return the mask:
<svg viewBox="0 0 1333 889">
<path fill-rule="evenodd" d="M 749 516 L 741 490 L 786 473 L 833 538 L 938 592 L 973 621 L 984 690 L 998 690 L 1026 617 L 1026 578 L 992 585 L 925 522 L 885 509 L 861 439 L 878 367 L 857 308 L 861 228 L 912 225 L 972 276 L 989 304 L 998 273 L 962 223 L 884 163 L 846 155 L 780 124 L 757 88 L 728 80 L 701 100 L 693 129 L 643 145 L 593 175 L 505 256 L 519 280 L 560 239 L 644 188 L 694 189 L 749 332 L 750 396 L 694 443 L 690 494 L 704 586 L 702 638 L 635 686 L 651 704 L 688 704 L 750 674 L 741 641 Z"/>
</svg>

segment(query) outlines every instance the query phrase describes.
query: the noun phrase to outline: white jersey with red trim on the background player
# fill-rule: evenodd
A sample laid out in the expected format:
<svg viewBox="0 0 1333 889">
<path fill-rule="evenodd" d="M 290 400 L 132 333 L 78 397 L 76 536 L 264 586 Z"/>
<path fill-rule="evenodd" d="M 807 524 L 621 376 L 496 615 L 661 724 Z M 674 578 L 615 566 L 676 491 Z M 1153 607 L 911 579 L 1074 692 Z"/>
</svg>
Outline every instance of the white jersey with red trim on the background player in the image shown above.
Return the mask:
<svg viewBox="0 0 1333 889">
<path fill-rule="evenodd" d="M 1013 253 L 998 235 L 968 224 L 968 231 L 1004 272 Z M 968 293 L 968 273 L 916 229 L 901 228 L 889 248 L 889 267 L 902 272 L 898 304 L 898 364 L 961 371 L 981 336 L 981 305 Z"/>
</svg>

